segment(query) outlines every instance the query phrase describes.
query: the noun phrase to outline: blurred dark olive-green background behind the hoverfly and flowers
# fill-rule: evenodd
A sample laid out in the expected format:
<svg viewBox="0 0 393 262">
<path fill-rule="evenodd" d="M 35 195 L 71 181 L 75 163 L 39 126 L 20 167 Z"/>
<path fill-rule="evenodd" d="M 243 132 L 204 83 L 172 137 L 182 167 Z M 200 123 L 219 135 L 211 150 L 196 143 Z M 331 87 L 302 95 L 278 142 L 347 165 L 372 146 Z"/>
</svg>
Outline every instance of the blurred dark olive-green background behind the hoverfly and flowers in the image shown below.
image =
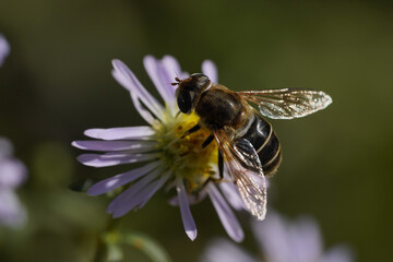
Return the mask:
<svg viewBox="0 0 393 262">
<path fill-rule="evenodd" d="M 309 87 L 326 110 L 272 123 L 284 150 L 270 205 L 318 219 L 325 247 L 346 242 L 358 261 L 386 261 L 392 246 L 393 5 L 391 1 L 0 1 L 11 55 L 0 68 L 0 134 L 29 169 L 19 194 L 27 225 L 0 229 L 0 261 L 88 261 L 108 199 L 68 189 L 86 175 L 73 140 L 88 128 L 144 124 L 110 75 L 123 60 L 157 94 L 145 55 L 175 56 L 188 72 L 204 59 L 233 90 Z M 130 168 L 130 167 L 126 167 Z M 165 192 L 128 214 L 122 230 L 157 239 L 174 261 L 196 261 L 227 237 L 209 200 L 192 207 L 191 242 Z M 249 216 L 238 214 L 255 249 Z M 127 248 L 128 261 L 148 261 Z"/>
</svg>

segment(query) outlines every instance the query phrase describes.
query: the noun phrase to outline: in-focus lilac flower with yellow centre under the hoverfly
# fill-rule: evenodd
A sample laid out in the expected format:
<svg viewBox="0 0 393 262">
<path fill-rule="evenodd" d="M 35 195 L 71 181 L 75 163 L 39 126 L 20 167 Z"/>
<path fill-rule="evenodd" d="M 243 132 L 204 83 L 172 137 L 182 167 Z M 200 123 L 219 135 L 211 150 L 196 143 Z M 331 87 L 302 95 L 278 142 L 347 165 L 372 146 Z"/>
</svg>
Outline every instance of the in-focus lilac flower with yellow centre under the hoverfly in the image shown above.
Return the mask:
<svg viewBox="0 0 393 262">
<path fill-rule="evenodd" d="M 93 184 L 87 194 L 98 195 L 128 184 L 107 209 L 114 217 L 120 217 L 131 210 L 144 206 L 164 184 L 169 189 L 176 188 L 177 196 L 169 202 L 179 205 L 183 227 L 191 240 L 196 237 L 196 226 L 190 204 L 209 195 L 228 235 L 234 240 L 241 241 L 243 231 L 229 207 L 230 204 L 237 210 L 242 209 L 235 186 L 230 182 L 221 182 L 218 186 L 211 182 L 211 178 L 217 176 L 216 143 L 202 148 L 202 143 L 210 135 L 204 129 L 183 138 L 184 132 L 194 127 L 199 118 L 194 114 L 178 114 L 171 82 L 176 76 L 183 79 L 189 74 L 182 72 L 177 60 L 170 56 L 165 56 L 162 60 L 147 56 L 143 61 L 165 107 L 120 60 L 112 61 L 112 75 L 130 92 L 134 107 L 150 126 L 90 129 L 84 134 L 97 140 L 74 141 L 72 145 L 81 150 L 105 152 L 80 155 L 79 162 L 86 166 L 144 164 Z M 202 71 L 213 82 L 217 81 L 216 68 L 212 61 L 204 61 Z M 133 183 L 130 184 L 131 182 Z"/>
</svg>

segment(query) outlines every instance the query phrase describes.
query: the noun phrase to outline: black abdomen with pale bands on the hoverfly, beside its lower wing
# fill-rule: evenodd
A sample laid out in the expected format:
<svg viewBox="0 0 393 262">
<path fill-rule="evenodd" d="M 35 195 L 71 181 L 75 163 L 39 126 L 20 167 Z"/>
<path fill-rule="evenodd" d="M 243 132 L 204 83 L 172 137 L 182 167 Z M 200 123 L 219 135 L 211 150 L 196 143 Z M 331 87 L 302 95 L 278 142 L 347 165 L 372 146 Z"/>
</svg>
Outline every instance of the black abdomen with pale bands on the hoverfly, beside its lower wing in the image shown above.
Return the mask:
<svg viewBox="0 0 393 262">
<path fill-rule="evenodd" d="M 281 163 L 281 145 L 272 124 L 259 114 L 254 114 L 247 132 L 242 139 L 251 142 L 262 164 L 265 176 L 273 175 Z"/>
</svg>

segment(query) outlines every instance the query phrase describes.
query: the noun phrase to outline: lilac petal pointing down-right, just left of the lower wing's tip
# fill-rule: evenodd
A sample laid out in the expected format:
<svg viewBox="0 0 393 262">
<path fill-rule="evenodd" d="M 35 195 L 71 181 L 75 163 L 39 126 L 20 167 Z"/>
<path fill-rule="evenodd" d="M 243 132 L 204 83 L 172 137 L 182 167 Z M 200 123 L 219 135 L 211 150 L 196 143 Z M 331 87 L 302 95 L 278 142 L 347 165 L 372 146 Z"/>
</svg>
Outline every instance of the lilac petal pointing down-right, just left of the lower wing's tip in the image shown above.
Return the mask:
<svg viewBox="0 0 393 262">
<path fill-rule="evenodd" d="M 229 205 L 224 200 L 223 195 L 219 193 L 218 189 L 214 184 L 209 183 L 207 190 L 212 203 L 218 214 L 221 222 L 223 223 L 225 230 L 231 239 L 240 242 L 245 238 L 245 234 L 234 212 L 230 210 Z"/>
</svg>

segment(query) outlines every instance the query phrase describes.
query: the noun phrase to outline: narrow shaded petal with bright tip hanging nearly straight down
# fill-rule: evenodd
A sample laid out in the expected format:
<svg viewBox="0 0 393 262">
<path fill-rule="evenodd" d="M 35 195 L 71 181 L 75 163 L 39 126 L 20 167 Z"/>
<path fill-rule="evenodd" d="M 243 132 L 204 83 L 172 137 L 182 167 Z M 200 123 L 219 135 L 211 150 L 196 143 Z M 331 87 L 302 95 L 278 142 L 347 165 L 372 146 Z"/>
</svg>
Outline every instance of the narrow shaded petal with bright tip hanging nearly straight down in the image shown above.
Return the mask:
<svg viewBox="0 0 393 262">
<path fill-rule="evenodd" d="M 176 180 L 177 180 L 176 190 L 177 190 L 178 198 L 179 198 L 181 219 L 182 219 L 187 236 L 193 241 L 196 238 L 196 234 L 198 234 L 195 222 L 191 214 L 191 210 L 190 210 L 190 205 L 188 203 L 187 192 L 186 192 L 186 188 L 182 182 L 182 179 L 181 179 L 181 177 L 177 177 Z"/>
</svg>

